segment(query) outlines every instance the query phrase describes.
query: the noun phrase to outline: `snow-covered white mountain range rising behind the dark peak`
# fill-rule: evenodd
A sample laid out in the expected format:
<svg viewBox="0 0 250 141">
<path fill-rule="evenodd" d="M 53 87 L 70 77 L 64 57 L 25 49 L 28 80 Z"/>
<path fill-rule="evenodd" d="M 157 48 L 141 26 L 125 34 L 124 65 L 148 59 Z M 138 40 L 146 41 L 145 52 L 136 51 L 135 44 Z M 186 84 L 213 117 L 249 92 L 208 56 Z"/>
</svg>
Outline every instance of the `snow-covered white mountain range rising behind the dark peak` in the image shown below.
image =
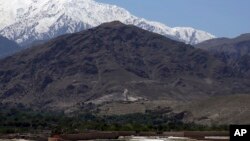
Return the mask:
<svg viewBox="0 0 250 141">
<path fill-rule="evenodd" d="M 193 28 L 147 21 L 115 5 L 94 0 L 0 0 L 0 35 L 27 45 L 119 20 L 188 44 L 215 36 Z"/>
</svg>

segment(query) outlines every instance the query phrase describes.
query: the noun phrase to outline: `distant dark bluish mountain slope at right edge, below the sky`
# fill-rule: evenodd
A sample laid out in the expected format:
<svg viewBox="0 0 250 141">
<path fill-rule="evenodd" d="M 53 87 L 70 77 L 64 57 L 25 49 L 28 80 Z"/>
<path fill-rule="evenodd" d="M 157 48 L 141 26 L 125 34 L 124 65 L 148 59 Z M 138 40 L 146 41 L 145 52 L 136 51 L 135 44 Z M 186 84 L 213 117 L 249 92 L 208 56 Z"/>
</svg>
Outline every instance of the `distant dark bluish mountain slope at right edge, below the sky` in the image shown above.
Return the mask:
<svg viewBox="0 0 250 141">
<path fill-rule="evenodd" d="M 233 39 L 213 39 L 197 44 L 196 47 L 209 51 L 233 68 L 225 70 L 230 72 L 231 76 L 236 73 L 241 77 L 248 75 L 246 72 L 250 69 L 250 34 L 243 34 Z"/>
</svg>

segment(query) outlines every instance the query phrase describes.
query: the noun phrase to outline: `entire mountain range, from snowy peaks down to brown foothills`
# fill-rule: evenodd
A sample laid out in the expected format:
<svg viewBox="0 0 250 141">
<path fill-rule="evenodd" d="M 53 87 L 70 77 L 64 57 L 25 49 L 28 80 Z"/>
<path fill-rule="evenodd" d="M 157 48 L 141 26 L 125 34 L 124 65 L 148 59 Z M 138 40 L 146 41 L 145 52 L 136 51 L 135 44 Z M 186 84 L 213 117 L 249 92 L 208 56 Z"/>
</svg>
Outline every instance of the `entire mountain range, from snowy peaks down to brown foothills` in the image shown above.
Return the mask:
<svg viewBox="0 0 250 141">
<path fill-rule="evenodd" d="M 250 34 L 215 38 L 94 0 L 0 0 L 0 14 L 0 105 L 250 122 Z"/>
</svg>

